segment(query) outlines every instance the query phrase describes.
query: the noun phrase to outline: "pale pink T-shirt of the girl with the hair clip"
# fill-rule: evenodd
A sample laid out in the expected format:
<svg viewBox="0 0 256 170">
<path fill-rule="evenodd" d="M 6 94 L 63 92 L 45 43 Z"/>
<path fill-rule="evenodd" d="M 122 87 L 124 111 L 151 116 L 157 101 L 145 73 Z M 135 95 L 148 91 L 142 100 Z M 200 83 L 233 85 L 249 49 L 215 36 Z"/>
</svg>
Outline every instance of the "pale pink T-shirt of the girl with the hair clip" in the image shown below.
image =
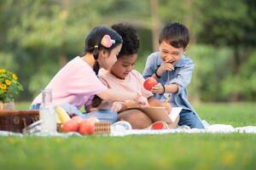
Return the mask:
<svg viewBox="0 0 256 170">
<path fill-rule="evenodd" d="M 102 84 L 90 65 L 79 57 L 71 60 L 49 82 L 46 88 L 53 91 L 53 103 L 68 103 L 81 108 L 90 103 L 95 94 L 102 93 L 106 86 Z M 42 102 L 41 94 L 32 104 Z"/>
</svg>

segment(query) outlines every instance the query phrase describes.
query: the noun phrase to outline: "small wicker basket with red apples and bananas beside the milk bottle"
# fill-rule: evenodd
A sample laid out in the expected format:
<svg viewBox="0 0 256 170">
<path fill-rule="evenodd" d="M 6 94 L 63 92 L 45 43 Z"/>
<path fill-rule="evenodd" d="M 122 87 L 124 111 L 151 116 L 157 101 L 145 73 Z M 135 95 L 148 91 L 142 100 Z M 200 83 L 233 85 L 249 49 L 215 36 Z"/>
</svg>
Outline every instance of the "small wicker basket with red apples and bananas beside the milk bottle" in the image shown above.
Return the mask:
<svg viewBox="0 0 256 170">
<path fill-rule="evenodd" d="M 61 107 L 55 108 L 57 112 L 58 131 L 61 133 L 77 132 L 85 134 L 108 134 L 110 133 L 110 122 L 99 122 L 96 117 L 83 119 L 81 116 L 68 116 Z"/>
</svg>

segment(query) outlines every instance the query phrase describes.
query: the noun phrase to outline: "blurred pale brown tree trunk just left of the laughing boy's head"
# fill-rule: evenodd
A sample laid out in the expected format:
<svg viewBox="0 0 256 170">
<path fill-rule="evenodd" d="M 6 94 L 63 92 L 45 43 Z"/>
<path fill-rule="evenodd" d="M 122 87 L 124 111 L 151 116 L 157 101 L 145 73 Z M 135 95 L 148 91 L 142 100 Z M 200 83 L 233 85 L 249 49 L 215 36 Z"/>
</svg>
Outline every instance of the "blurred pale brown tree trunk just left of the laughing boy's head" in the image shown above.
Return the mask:
<svg viewBox="0 0 256 170">
<path fill-rule="evenodd" d="M 151 0 L 151 17 L 152 17 L 152 42 L 154 51 L 159 48 L 159 29 L 160 29 L 160 20 L 159 20 L 159 0 Z"/>
</svg>

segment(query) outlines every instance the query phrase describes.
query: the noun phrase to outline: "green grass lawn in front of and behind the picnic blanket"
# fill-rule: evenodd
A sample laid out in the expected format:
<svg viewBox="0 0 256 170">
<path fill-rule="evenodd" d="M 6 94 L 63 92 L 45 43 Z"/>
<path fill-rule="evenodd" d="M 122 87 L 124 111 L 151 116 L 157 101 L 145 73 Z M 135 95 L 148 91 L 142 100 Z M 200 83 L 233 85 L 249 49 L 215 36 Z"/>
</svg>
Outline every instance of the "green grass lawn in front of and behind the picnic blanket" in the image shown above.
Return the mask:
<svg viewBox="0 0 256 170">
<path fill-rule="evenodd" d="M 253 103 L 200 104 L 195 110 L 210 123 L 256 126 Z M 0 169 L 255 169 L 255 142 L 256 134 L 244 133 L 1 137 Z"/>
</svg>

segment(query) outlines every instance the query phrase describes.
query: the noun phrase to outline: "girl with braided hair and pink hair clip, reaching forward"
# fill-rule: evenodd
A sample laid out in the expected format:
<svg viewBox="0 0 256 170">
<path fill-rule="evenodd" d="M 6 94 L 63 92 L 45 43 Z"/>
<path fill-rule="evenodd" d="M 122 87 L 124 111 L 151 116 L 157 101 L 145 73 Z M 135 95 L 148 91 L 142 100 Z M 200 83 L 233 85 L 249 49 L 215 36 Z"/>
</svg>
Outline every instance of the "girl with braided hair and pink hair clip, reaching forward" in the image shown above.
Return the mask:
<svg viewBox="0 0 256 170">
<path fill-rule="evenodd" d="M 121 47 L 122 37 L 116 31 L 101 26 L 90 31 L 85 39 L 84 56 L 68 62 L 47 85 L 46 88 L 52 89 L 53 103 L 80 109 L 83 105 L 90 105 L 97 94 L 109 102 L 134 99 L 143 107 L 148 106 L 148 100 L 137 92 L 116 92 L 104 86 L 97 77 L 100 68 L 108 70 L 115 63 Z M 41 102 L 39 94 L 32 102 L 32 109 L 38 109 Z"/>
</svg>

